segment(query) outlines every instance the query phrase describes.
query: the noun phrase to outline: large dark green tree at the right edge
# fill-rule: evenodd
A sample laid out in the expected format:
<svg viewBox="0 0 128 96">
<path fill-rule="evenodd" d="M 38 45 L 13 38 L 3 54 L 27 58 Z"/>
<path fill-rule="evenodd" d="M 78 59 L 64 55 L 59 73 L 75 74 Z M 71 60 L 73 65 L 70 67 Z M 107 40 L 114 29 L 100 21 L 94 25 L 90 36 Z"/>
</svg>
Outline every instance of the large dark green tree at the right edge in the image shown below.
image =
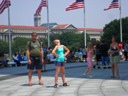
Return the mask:
<svg viewBox="0 0 128 96">
<path fill-rule="evenodd" d="M 111 38 L 114 36 L 117 42 L 120 42 L 120 20 L 111 21 L 104 27 L 103 32 L 101 41 L 110 44 Z M 122 34 L 123 42 L 128 42 L 128 17 L 122 18 Z"/>
</svg>

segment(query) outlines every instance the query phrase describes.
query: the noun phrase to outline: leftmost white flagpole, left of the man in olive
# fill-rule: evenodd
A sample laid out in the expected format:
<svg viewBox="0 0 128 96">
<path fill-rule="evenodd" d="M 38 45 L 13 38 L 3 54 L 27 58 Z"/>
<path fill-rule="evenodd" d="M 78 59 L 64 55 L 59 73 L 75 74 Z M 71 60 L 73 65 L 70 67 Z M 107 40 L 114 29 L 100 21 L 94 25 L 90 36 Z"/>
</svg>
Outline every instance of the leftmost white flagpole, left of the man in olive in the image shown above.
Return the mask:
<svg viewBox="0 0 128 96">
<path fill-rule="evenodd" d="M 8 7 L 8 35 L 9 35 L 9 38 L 8 38 L 8 42 L 9 42 L 9 58 L 10 60 L 12 59 L 12 48 L 11 48 L 11 43 L 12 43 L 12 39 L 11 39 L 11 28 L 10 28 L 10 9 Z"/>
</svg>

